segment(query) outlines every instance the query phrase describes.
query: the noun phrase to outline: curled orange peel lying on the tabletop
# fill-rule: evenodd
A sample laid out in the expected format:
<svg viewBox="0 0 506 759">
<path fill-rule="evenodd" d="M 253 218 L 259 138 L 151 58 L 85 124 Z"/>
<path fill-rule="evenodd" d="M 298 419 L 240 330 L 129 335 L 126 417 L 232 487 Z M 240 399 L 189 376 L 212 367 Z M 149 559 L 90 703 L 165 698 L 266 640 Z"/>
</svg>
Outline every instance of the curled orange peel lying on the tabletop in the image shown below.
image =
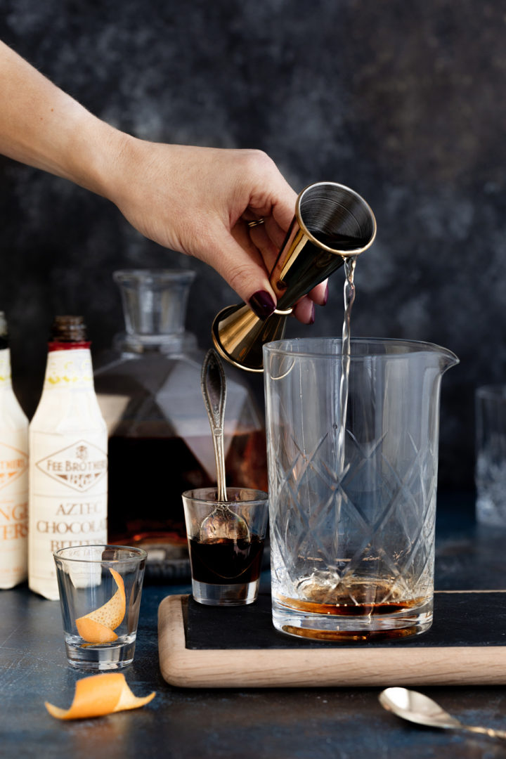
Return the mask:
<svg viewBox="0 0 506 759">
<path fill-rule="evenodd" d="M 77 680 L 74 701 L 69 709 L 55 707 L 49 701 L 44 704 L 57 720 L 86 720 L 127 709 L 138 709 L 149 704 L 155 696 L 153 691 L 149 696 L 138 698 L 130 691 L 122 672 L 105 672 Z"/>
</svg>

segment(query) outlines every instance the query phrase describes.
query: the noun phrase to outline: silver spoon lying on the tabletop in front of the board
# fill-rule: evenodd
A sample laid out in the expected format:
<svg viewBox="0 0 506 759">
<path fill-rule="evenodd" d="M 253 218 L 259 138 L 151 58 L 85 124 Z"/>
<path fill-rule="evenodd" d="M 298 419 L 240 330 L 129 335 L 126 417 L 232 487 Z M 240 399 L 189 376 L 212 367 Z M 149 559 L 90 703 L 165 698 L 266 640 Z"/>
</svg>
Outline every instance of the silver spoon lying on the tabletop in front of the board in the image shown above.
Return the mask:
<svg viewBox="0 0 506 759">
<path fill-rule="evenodd" d="M 445 712 L 432 698 L 423 693 L 409 691 L 407 688 L 386 688 L 379 694 L 379 703 L 386 710 L 397 714 L 403 720 L 428 727 L 444 727 L 454 730 L 481 732 L 490 738 L 506 739 L 506 730 L 494 730 L 491 727 L 464 725 L 454 716 Z"/>
</svg>

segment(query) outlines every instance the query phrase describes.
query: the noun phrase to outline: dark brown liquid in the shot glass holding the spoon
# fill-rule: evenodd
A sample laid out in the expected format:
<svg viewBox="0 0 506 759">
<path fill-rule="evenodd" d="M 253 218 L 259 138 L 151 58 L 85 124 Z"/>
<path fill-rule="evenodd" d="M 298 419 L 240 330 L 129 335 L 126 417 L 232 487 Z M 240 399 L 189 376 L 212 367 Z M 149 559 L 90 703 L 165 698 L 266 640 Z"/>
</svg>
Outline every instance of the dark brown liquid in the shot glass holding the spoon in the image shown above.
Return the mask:
<svg viewBox="0 0 506 759">
<path fill-rule="evenodd" d="M 191 576 L 198 582 L 220 585 L 258 580 L 262 563 L 263 539 L 231 540 L 218 537 L 206 543 L 190 540 Z"/>
</svg>

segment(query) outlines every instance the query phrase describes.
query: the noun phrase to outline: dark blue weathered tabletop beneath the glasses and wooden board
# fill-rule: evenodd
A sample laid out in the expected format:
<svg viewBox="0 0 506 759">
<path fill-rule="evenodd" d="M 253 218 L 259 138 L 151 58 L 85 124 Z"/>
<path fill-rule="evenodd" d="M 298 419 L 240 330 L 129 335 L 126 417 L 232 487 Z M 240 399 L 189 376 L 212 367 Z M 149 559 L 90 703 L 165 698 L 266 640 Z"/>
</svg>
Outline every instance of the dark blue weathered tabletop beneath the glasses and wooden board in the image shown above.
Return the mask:
<svg viewBox="0 0 506 759">
<path fill-rule="evenodd" d="M 474 523 L 471 496 L 452 496 L 439 509 L 436 587 L 506 587 L 506 530 Z M 463 732 L 412 726 L 385 712 L 379 688 L 184 690 L 162 679 L 157 612 L 162 599 L 189 593 L 187 584 L 143 590 L 137 650 L 125 670 L 137 696 L 155 690 L 141 709 L 95 720 L 60 722 L 44 701 L 67 708 L 82 673 L 64 657 L 59 604 L 26 586 L 0 594 L 0 755 L 54 759 L 127 757 L 502 757 L 506 742 Z M 506 633 L 506 631 L 505 631 Z M 423 688 L 467 723 L 506 728 L 500 687 Z"/>
</svg>

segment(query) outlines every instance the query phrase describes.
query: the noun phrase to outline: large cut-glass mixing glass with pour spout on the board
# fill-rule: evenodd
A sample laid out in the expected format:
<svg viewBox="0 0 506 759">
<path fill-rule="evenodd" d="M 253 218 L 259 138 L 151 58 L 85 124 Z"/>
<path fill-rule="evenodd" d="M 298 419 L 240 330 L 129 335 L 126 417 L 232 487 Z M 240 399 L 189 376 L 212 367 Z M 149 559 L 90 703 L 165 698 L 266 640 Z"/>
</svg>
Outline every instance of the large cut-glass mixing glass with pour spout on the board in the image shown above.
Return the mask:
<svg viewBox="0 0 506 759">
<path fill-rule="evenodd" d="M 424 342 L 264 346 L 272 616 L 322 640 L 432 623 L 441 377 Z"/>
</svg>

